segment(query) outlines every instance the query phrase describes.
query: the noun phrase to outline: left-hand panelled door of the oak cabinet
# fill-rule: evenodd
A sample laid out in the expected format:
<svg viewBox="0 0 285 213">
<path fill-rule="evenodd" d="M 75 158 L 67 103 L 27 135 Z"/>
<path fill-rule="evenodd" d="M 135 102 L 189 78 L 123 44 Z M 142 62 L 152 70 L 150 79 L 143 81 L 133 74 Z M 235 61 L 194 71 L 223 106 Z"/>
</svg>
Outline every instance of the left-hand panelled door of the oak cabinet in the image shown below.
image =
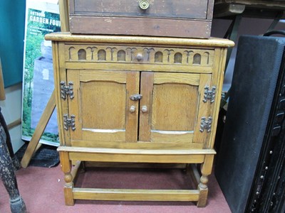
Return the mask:
<svg viewBox="0 0 285 213">
<path fill-rule="evenodd" d="M 71 141 L 138 141 L 138 101 L 129 97 L 139 93 L 139 72 L 67 70 L 67 76 L 74 91 Z"/>
</svg>

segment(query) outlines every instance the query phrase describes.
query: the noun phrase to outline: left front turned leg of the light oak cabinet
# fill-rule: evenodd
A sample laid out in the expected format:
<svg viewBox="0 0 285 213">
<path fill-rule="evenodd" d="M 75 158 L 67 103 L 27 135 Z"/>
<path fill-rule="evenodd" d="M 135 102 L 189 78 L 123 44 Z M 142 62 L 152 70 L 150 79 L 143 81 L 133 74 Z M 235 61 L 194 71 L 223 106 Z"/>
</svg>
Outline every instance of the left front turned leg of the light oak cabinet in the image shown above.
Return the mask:
<svg viewBox="0 0 285 213">
<path fill-rule="evenodd" d="M 61 158 L 61 170 L 64 173 L 64 198 L 67 206 L 73 206 L 73 177 L 71 175 L 71 160 L 69 160 L 67 152 L 59 152 Z"/>
</svg>

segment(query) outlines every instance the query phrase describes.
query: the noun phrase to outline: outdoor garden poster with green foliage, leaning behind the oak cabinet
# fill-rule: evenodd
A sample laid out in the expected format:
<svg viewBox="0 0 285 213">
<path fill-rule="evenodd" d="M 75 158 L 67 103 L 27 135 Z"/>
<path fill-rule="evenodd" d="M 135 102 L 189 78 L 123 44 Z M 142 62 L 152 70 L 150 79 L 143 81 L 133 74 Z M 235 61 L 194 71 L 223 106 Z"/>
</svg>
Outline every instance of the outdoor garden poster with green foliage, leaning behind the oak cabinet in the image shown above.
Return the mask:
<svg viewBox="0 0 285 213">
<path fill-rule="evenodd" d="M 57 1 L 26 1 L 24 73 L 22 101 L 22 139 L 30 141 L 54 89 L 51 41 L 47 33 L 61 30 Z M 58 146 L 56 110 L 40 143 Z"/>
</svg>

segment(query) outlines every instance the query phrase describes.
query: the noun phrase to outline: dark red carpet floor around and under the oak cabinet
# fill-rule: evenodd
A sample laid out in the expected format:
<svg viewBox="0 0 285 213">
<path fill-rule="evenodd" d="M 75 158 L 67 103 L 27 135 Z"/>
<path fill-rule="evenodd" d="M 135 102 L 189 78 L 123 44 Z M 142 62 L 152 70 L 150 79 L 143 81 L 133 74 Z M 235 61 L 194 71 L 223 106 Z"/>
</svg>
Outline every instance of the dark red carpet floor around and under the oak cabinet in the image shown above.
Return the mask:
<svg viewBox="0 0 285 213">
<path fill-rule="evenodd" d="M 207 207 L 197 208 L 194 202 L 103 202 L 77 200 L 68 207 L 64 204 L 63 173 L 60 166 L 40 168 L 29 166 L 16 172 L 21 196 L 29 213 L 57 212 L 231 212 L 214 175 L 209 176 L 209 196 Z M 88 169 L 79 176 L 77 185 L 84 187 L 132 187 L 156 189 L 187 189 L 191 187 L 182 170 L 128 169 L 119 168 Z M 0 213 L 9 213 L 9 196 L 0 183 Z"/>
</svg>

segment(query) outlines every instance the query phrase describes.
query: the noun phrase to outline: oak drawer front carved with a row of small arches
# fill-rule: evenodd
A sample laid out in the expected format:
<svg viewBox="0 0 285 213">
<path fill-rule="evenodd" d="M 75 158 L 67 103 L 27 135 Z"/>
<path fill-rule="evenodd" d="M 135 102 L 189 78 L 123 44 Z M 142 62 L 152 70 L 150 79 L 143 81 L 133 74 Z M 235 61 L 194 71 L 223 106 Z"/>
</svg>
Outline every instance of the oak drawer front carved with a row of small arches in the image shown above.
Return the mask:
<svg viewBox="0 0 285 213">
<path fill-rule="evenodd" d="M 108 45 L 66 45 L 71 62 L 123 62 L 212 66 L 214 50 Z"/>
</svg>

